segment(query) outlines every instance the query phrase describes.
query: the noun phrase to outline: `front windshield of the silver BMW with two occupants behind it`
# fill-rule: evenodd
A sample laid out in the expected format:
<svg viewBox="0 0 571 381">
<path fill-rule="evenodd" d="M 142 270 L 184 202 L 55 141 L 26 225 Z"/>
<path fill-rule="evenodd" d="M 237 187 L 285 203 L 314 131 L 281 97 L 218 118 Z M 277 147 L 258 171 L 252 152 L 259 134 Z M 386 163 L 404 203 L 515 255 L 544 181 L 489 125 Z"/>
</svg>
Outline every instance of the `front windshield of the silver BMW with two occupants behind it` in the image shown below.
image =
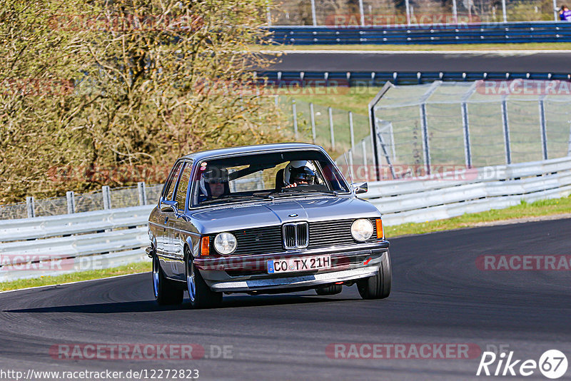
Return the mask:
<svg viewBox="0 0 571 381">
<path fill-rule="evenodd" d="M 192 205 L 348 192 L 343 176 L 318 150 L 255 153 L 198 162 Z"/>
</svg>

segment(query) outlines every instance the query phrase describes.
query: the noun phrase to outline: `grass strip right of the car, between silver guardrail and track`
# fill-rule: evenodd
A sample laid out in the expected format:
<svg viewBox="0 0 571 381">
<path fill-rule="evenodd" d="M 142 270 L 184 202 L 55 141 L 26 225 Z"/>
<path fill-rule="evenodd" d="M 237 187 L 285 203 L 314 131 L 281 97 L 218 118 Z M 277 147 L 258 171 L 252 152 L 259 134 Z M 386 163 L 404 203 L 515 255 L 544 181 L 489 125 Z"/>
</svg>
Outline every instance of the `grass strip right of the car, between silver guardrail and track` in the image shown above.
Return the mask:
<svg viewBox="0 0 571 381">
<path fill-rule="evenodd" d="M 405 223 L 403 225 L 385 226 L 387 238 L 401 235 L 431 233 L 441 230 L 470 228 L 481 223 L 530 218 L 542 215 L 557 215 L 571 213 L 571 196 L 539 200 L 535 203 L 522 201 L 519 205 L 505 209 L 492 209 L 482 213 L 470 213 L 446 220 L 429 221 L 425 223 Z"/>
</svg>

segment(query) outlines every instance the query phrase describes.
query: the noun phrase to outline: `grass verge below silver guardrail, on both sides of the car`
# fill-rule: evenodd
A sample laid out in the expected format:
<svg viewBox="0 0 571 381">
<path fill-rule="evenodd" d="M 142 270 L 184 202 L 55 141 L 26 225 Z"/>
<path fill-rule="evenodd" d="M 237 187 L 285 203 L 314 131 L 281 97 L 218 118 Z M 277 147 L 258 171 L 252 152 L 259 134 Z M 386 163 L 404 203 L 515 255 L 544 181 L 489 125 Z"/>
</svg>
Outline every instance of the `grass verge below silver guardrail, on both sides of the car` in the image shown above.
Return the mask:
<svg viewBox="0 0 571 381">
<path fill-rule="evenodd" d="M 472 213 L 461 215 L 460 217 L 449 218 L 448 220 L 437 220 L 426 223 L 405 223 L 403 225 L 385 226 L 387 238 L 395 238 L 402 235 L 431 233 L 441 230 L 453 230 L 459 228 L 470 228 L 481 223 L 513 220 L 517 218 L 529 218 L 542 215 L 557 215 L 571 213 L 571 196 L 566 198 L 555 198 L 552 200 L 540 200 L 535 203 L 522 202 L 519 205 L 505 209 L 494 209 L 482 213 Z M 116 275 L 126 275 L 134 273 L 144 273 L 151 271 L 151 263 L 133 263 L 118 268 L 106 270 L 91 270 L 81 273 L 59 275 L 55 277 L 44 277 L 35 279 L 14 280 L 0 283 L 0 291 L 17 290 L 20 288 L 38 287 L 43 285 L 59 285 L 80 280 L 91 280 L 108 278 Z"/>
</svg>

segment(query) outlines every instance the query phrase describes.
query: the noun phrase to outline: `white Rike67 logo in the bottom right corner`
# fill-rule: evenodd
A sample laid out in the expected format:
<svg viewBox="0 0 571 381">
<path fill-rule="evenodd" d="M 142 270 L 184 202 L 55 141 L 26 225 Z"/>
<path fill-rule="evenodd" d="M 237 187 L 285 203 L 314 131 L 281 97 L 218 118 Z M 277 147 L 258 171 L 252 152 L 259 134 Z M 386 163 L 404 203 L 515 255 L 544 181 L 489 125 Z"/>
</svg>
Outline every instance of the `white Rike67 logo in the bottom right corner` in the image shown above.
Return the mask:
<svg viewBox="0 0 571 381">
<path fill-rule="evenodd" d="M 567 372 L 567 357 L 560 350 L 545 351 L 539 361 L 517 359 L 513 351 L 507 355 L 483 352 L 476 375 L 528 377 L 537 370 L 552 380 L 560 378 Z"/>
</svg>

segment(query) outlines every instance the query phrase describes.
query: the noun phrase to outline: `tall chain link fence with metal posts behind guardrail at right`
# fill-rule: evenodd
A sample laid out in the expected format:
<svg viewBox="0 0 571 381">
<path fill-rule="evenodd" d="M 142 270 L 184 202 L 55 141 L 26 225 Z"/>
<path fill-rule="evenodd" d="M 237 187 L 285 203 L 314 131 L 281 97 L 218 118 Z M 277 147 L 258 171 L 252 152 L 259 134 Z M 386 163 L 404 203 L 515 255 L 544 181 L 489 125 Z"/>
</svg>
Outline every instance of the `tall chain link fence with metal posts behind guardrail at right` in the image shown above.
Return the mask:
<svg viewBox="0 0 571 381">
<path fill-rule="evenodd" d="M 430 173 L 571 156 L 570 82 L 388 83 L 383 91 L 373 107 L 375 164 L 393 178 L 395 167 Z M 373 149 L 366 155 L 375 159 Z"/>
</svg>

